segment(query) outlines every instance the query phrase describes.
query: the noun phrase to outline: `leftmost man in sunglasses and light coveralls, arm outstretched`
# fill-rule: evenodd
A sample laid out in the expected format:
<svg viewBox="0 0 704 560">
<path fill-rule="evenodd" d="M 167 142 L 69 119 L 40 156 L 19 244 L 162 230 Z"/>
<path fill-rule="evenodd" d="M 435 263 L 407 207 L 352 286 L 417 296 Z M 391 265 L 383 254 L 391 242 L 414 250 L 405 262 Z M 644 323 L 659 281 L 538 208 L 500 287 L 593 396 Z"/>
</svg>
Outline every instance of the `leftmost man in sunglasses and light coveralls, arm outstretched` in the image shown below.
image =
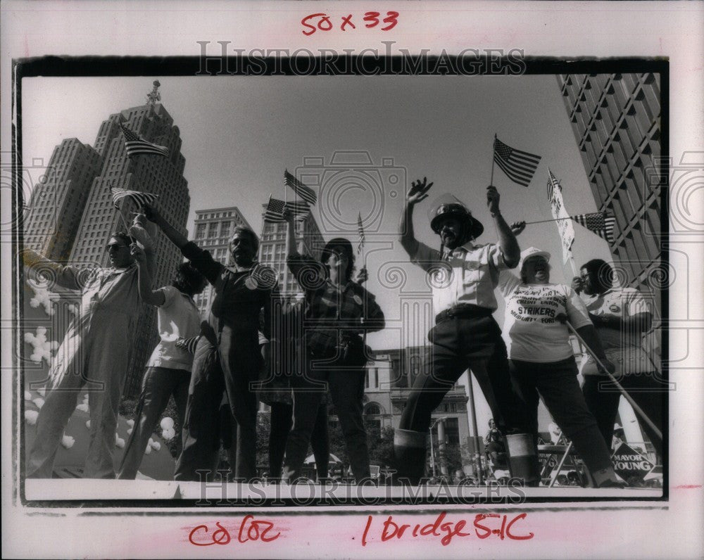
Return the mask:
<svg viewBox="0 0 704 560">
<path fill-rule="evenodd" d="M 50 271 L 54 284 L 82 293 L 80 311 L 49 369 L 49 390 L 39 410 L 27 478 L 51 478 L 63 431 L 83 391 L 89 395 L 90 409 L 84 477 L 115 478 L 112 451 L 118 406 L 139 314 L 137 266 L 132 255 L 136 248 L 130 236 L 115 233 L 106 246 L 109 266 L 92 270 L 60 265 L 33 250 L 23 252 L 28 274 L 36 276 L 42 270 L 46 279 L 44 271 Z"/>
</svg>

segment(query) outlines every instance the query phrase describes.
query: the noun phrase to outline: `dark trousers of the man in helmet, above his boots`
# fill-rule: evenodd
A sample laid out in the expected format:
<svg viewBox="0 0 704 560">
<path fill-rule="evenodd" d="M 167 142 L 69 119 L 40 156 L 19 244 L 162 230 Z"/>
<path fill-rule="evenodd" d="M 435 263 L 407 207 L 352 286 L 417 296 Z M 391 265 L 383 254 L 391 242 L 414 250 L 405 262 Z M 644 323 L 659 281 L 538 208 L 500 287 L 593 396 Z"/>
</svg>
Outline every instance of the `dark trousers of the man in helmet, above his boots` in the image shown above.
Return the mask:
<svg viewBox="0 0 704 560">
<path fill-rule="evenodd" d="M 434 409 L 470 368 L 501 432 L 525 431 L 524 405 L 511 384 L 506 345 L 494 317 L 446 319 L 430 330 L 428 340 L 432 350 L 410 390 L 399 428 L 427 432 Z"/>
</svg>

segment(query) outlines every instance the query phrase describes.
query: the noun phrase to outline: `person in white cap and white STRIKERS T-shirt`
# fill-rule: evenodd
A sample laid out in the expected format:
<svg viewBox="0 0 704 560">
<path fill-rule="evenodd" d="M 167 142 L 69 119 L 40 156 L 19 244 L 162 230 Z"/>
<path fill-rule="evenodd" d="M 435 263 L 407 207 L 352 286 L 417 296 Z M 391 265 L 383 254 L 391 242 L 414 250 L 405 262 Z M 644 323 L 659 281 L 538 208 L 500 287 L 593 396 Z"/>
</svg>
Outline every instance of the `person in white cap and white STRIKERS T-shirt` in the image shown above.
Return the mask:
<svg viewBox="0 0 704 560">
<path fill-rule="evenodd" d="M 607 367 L 610 362 L 579 295 L 570 286 L 550 284 L 549 260 L 550 253 L 531 247 L 521 253 L 520 279 L 508 271 L 499 275 L 498 286 L 506 302 L 503 337 L 511 377 L 526 403 L 534 438 L 540 395 L 596 485 L 619 485 L 608 447 L 579 388 L 565 318 Z"/>
</svg>

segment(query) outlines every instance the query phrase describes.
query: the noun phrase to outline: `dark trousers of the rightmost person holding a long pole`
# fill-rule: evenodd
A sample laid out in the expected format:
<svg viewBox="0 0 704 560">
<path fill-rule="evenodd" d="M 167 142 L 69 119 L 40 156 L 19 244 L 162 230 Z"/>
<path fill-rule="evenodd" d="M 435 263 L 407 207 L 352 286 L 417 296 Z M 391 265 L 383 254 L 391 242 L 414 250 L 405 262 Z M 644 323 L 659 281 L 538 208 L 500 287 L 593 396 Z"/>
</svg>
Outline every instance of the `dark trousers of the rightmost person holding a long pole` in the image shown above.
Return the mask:
<svg viewBox="0 0 704 560">
<path fill-rule="evenodd" d="M 655 379 L 655 374 L 630 374 L 621 376 L 618 379 L 620 385 L 627 391 L 631 398 L 636 401 L 648 415 L 655 426 L 662 431 L 662 407 L 665 404 L 665 386 L 662 381 Z M 599 383 L 604 386 L 600 389 Z M 584 400 L 591 410 L 591 414 L 596 418 L 596 424 L 603 435 L 606 445 L 611 448 L 611 440 L 614 435 L 614 424 L 621 392 L 615 388 L 612 382 L 605 376 L 585 375 L 584 386 L 582 386 Z M 662 440 L 653 431 L 643 417 L 636 412 L 641 421 L 641 428 L 646 431 L 650 442 L 653 443 L 658 455 L 662 457 Z"/>
</svg>

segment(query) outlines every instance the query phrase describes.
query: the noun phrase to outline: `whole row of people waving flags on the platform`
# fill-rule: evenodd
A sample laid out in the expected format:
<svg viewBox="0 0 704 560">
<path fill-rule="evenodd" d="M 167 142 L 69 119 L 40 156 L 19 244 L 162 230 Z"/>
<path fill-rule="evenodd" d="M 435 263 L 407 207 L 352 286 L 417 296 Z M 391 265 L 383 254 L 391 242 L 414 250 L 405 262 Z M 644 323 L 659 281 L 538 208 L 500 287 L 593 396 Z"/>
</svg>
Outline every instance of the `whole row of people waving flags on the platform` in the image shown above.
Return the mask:
<svg viewBox="0 0 704 560">
<path fill-rule="evenodd" d="M 662 426 L 658 368 L 639 344 L 653 321 L 642 295 L 612 286 L 612 270 L 601 260 L 587 262 L 572 286 L 552 284 L 551 255 L 535 247 L 521 250 L 518 236 L 525 224 L 505 221 L 494 186 L 486 189 L 486 205 L 496 243 L 477 243 L 484 225 L 462 201 L 444 195 L 428 211 L 439 249 L 425 245 L 415 238 L 413 210 L 431 187 L 427 179 L 411 184 L 399 222 L 401 246 L 432 280 L 435 325 L 428 333 L 427 364 L 410 388 L 394 433 L 394 480 L 418 484 L 424 479 L 432 413 L 470 369 L 493 415 L 484 441 L 492 462 L 501 454 L 512 476 L 526 485 L 539 483 L 537 410 L 542 398 L 593 485 L 622 485 L 610 459 L 622 392 Z M 284 210 L 287 267 L 304 296 L 291 302 L 279 293 L 276 274 L 257 262 L 258 238 L 251 229 L 234 230 L 230 262 L 223 265 L 153 206 L 142 212 L 186 259 L 170 286 L 152 285 L 152 243 L 142 222 L 111 237 L 106 248 L 111 266 L 94 269 L 84 281 L 75 267 L 31 250 L 23 254 L 30 274 L 41 265 L 54 272 L 59 286 L 82 292 L 81 312 L 51 366 L 27 477 L 52 476 L 77 395 L 90 385 L 98 390 L 89 392 L 86 477 L 134 478 L 149 435 L 173 396 L 182 425 L 177 481 L 213 476 L 222 445 L 236 480 L 256 478 L 259 400 L 271 407 L 270 478 L 298 480 L 310 445 L 318 478 L 327 479 L 328 400 L 339 418 L 355 480 L 369 478 L 363 394 L 365 363 L 372 356 L 365 335 L 384 329 L 384 313 L 363 287 L 367 272 L 356 271 L 351 242 L 333 238 L 318 260 L 301 254 L 296 217 Z M 206 283 L 214 298 L 201 321 L 193 298 Z M 505 301 L 503 333 L 493 316 L 497 288 Z M 160 341 L 146 363 L 134 428 L 115 471 L 115 424 L 140 302 L 157 308 Z M 584 361 L 582 388 L 570 329 L 596 358 Z M 610 374 L 620 379 L 620 386 L 609 385 Z M 650 390 L 640 390 L 643 383 Z M 662 452 L 658 431 L 644 427 Z M 454 478 L 461 480 L 461 471 Z"/>
</svg>

